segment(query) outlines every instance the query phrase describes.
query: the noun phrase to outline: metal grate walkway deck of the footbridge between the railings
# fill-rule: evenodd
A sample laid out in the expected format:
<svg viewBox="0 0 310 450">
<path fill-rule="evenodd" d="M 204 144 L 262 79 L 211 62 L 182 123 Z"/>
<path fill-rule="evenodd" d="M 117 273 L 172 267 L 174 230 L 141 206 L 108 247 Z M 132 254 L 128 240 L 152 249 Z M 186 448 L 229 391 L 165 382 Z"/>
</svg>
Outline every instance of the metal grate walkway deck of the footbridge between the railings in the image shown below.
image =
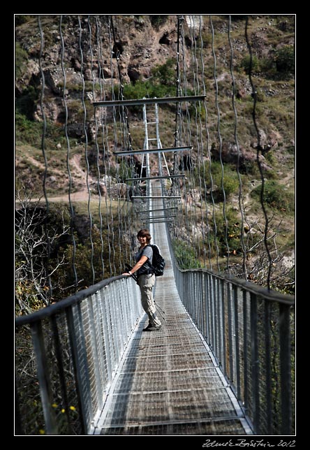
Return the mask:
<svg viewBox="0 0 310 450">
<path fill-rule="evenodd" d="M 142 332 L 143 315 L 108 393 L 97 435 L 246 435 L 251 429 L 177 293 L 165 224 L 154 238 L 166 266 L 155 302 L 160 331 Z M 160 311 L 160 310 L 159 310 Z"/>
</svg>

